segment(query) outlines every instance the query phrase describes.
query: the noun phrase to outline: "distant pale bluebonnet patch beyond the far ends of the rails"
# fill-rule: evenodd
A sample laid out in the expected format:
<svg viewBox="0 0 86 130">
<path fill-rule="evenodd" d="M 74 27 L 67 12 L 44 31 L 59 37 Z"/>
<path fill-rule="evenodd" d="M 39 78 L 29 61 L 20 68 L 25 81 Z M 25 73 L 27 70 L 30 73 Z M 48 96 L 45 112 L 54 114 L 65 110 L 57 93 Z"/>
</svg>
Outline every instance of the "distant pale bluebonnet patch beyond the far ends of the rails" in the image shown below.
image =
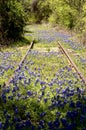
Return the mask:
<svg viewBox="0 0 86 130">
<path fill-rule="evenodd" d="M 64 42 L 65 44 L 68 44 L 72 49 L 74 50 L 81 50 L 82 44 L 78 42 L 74 42 L 71 40 L 73 36 L 63 34 L 62 32 L 57 32 L 53 30 L 36 30 L 34 33 L 27 33 L 26 36 L 34 36 L 36 37 L 40 42 L 43 43 L 51 43 L 55 42 L 57 40 L 60 40 Z"/>
</svg>

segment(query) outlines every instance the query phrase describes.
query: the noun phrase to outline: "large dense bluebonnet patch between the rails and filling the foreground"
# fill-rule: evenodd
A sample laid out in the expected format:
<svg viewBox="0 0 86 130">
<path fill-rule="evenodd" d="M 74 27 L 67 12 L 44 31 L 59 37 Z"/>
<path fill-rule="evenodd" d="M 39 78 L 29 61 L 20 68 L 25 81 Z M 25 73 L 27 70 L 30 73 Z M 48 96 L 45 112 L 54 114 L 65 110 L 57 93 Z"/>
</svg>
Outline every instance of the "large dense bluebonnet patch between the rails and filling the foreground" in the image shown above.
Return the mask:
<svg viewBox="0 0 86 130">
<path fill-rule="evenodd" d="M 57 55 L 28 53 L 9 86 L 2 88 L 0 130 L 86 130 L 85 87 L 77 74 L 62 61 L 53 78 L 43 77 L 45 64 L 35 66 L 34 58 Z"/>
</svg>

